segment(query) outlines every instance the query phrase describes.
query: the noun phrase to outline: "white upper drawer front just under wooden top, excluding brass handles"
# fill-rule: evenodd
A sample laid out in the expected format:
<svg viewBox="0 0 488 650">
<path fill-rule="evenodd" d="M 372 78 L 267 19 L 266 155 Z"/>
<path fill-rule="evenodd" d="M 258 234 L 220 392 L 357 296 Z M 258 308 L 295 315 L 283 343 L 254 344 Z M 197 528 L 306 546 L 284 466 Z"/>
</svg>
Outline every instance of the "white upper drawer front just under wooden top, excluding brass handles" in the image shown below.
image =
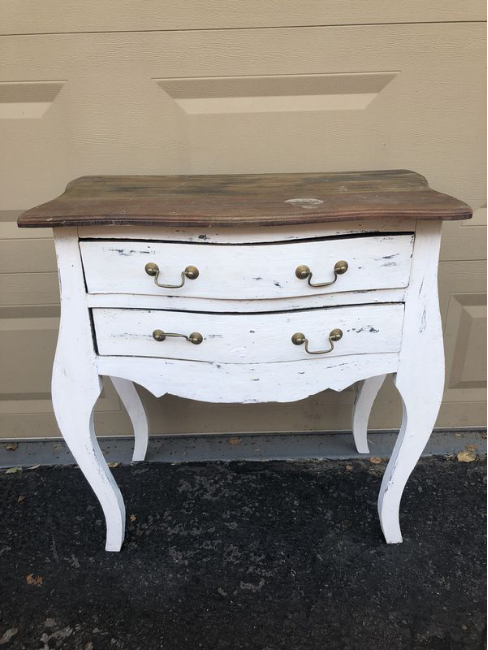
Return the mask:
<svg viewBox="0 0 488 650">
<path fill-rule="evenodd" d="M 285 244 L 214 245 L 140 241 L 81 241 L 89 293 L 132 293 L 194 298 L 259 300 L 321 293 L 395 289 L 408 285 L 413 235 L 384 235 Z M 307 266 L 311 282 L 328 283 L 338 261 L 347 271 L 329 286 L 312 287 L 299 279 Z M 156 286 L 148 263 L 159 268 Z M 182 276 L 198 269 L 196 279 Z"/>
</svg>

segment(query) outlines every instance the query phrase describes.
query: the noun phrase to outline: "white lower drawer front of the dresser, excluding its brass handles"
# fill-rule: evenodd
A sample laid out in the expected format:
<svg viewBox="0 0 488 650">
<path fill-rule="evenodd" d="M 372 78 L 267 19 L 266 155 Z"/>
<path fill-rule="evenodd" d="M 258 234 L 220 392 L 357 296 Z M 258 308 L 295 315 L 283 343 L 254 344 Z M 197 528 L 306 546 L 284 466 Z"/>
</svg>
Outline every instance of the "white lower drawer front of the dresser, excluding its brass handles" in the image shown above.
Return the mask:
<svg viewBox="0 0 488 650">
<path fill-rule="evenodd" d="M 260 363 L 329 358 L 351 354 L 398 352 L 403 324 L 403 304 L 333 307 L 275 314 L 206 314 L 195 312 L 93 309 L 98 353 L 102 356 L 160 357 Z M 292 336 L 303 333 L 310 350 L 329 347 L 329 333 L 343 337 L 332 352 L 310 355 Z M 154 330 L 190 335 L 203 341 L 194 345 L 183 338 L 156 341 Z"/>
</svg>

